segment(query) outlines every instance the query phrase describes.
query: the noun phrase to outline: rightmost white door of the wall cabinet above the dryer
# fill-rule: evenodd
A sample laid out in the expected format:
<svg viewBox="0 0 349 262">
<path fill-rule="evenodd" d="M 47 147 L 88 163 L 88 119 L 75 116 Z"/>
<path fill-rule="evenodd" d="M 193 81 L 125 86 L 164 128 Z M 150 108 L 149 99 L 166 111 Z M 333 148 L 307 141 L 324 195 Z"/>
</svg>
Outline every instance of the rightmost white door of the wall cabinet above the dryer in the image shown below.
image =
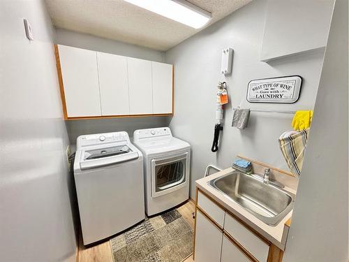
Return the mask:
<svg viewBox="0 0 349 262">
<path fill-rule="evenodd" d="M 154 114 L 172 113 L 172 64 L 152 62 Z"/>
</svg>

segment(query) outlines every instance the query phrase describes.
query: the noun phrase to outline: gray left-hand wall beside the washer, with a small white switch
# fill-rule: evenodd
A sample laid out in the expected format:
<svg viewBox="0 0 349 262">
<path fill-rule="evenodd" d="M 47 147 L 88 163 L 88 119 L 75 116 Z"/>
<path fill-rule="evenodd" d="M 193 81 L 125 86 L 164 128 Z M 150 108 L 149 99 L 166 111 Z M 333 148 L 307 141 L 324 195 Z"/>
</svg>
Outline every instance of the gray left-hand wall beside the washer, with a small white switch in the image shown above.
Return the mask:
<svg viewBox="0 0 349 262">
<path fill-rule="evenodd" d="M 68 136 L 43 1 L 0 1 L 0 32 L 0 260 L 73 262 Z"/>
</svg>

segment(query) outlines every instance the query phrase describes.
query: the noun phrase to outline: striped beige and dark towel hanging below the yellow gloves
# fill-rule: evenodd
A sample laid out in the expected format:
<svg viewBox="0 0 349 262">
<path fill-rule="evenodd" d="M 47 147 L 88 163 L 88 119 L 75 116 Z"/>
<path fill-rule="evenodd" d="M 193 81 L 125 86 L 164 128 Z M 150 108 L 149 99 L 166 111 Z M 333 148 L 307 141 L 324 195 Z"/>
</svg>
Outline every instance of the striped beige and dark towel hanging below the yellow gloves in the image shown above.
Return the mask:
<svg viewBox="0 0 349 262">
<path fill-rule="evenodd" d="M 301 174 L 308 135 L 309 129 L 304 129 L 298 132 L 285 132 L 279 138 L 283 157 L 285 157 L 291 172 L 297 176 Z"/>
</svg>

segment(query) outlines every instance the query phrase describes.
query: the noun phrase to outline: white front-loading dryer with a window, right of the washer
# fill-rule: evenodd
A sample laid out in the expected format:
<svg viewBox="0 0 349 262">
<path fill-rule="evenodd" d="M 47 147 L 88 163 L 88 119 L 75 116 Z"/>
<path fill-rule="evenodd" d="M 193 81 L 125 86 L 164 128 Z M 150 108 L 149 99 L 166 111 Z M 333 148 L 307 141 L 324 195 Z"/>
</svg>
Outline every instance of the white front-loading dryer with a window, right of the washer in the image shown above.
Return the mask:
<svg viewBox="0 0 349 262">
<path fill-rule="evenodd" d="M 136 130 L 133 143 L 144 155 L 147 215 L 188 200 L 191 146 L 174 138 L 168 127 Z"/>
</svg>

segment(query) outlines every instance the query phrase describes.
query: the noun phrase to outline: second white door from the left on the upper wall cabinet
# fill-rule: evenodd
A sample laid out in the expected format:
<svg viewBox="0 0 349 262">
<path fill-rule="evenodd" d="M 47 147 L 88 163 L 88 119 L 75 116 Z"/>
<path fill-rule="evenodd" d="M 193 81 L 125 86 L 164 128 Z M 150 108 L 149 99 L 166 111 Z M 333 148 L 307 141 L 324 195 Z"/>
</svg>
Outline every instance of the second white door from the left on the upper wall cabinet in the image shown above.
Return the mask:
<svg viewBox="0 0 349 262">
<path fill-rule="evenodd" d="M 127 57 L 97 52 L 102 115 L 129 115 Z"/>
</svg>

